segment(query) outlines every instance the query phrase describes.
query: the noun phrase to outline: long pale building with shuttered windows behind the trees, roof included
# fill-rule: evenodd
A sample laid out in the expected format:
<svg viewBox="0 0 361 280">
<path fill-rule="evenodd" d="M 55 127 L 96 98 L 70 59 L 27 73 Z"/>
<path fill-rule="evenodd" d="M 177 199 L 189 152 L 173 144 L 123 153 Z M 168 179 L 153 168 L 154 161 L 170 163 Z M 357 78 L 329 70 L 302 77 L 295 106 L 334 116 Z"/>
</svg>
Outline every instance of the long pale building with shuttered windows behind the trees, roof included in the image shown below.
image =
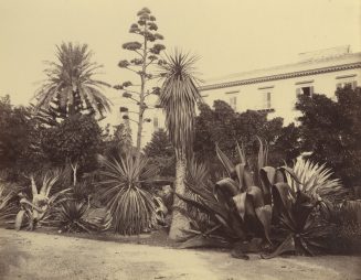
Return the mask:
<svg viewBox="0 0 361 280">
<path fill-rule="evenodd" d="M 336 89 L 346 85 L 353 88 L 361 85 L 361 52 L 351 53 L 349 46 L 340 46 L 299 54 L 299 61 L 293 64 L 208 80 L 199 89 L 210 106 L 220 99 L 235 111 L 264 110 L 269 118 L 284 118 L 287 125 L 298 116 L 295 110 L 298 95 L 317 93 L 336 98 Z M 153 131 L 164 127 L 161 110 L 149 117 L 152 123 L 147 128 L 145 142 Z"/>
</svg>

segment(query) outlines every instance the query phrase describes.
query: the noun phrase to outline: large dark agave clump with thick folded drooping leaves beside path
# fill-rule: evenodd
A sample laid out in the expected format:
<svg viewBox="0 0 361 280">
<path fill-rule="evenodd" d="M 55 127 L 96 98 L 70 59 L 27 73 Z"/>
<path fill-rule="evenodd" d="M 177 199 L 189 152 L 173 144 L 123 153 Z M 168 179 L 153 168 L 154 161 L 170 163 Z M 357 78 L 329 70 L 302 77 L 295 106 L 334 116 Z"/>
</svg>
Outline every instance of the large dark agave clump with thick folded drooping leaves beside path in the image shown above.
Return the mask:
<svg viewBox="0 0 361 280">
<path fill-rule="evenodd" d="M 229 176 L 213 185 L 188 184 L 200 200 L 177 194 L 208 213 L 213 226 L 201 233 L 194 231 L 182 247 L 217 246 L 220 240 L 234 246 L 258 237 L 266 245 L 263 248 L 276 248 L 272 254 L 263 255 L 264 258 L 285 251 L 314 255 L 322 247 L 320 239 L 329 234 L 330 227 L 317 215 L 319 200 L 300 190 L 301 183 L 291 169 L 267 166 L 267 144 L 263 144 L 261 139 L 258 141 L 258 162 L 253 164 L 256 166 L 253 172 L 242 147 L 237 144 L 241 162 L 236 165 L 216 147 Z M 287 176 L 295 182 L 296 190 L 287 184 Z M 275 228 L 283 234 L 283 240 L 274 238 Z M 244 258 L 244 251 L 240 252 L 237 257 Z"/>
</svg>

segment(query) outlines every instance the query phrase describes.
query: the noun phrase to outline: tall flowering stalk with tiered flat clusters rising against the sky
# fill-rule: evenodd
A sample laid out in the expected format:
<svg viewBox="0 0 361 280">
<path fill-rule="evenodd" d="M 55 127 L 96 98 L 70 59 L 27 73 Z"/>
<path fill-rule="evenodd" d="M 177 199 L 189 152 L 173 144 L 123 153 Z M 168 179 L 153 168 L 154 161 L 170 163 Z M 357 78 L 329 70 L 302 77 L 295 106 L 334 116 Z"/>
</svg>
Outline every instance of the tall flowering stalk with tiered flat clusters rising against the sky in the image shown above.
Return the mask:
<svg viewBox="0 0 361 280">
<path fill-rule="evenodd" d="M 132 100 L 138 106 L 138 111 L 129 111 L 127 107 L 121 107 L 120 111 L 125 114 L 124 119 L 130 119 L 128 116 L 129 112 L 138 116 L 137 120 L 130 120 L 135 121 L 138 126 L 137 158 L 139 159 L 142 123 L 145 121 L 150 121 L 150 119 L 145 118 L 145 111 L 149 108 L 146 99 L 150 95 L 159 95 L 158 87 L 152 87 L 150 90 L 147 89 L 148 82 L 157 76 L 150 73 L 149 67 L 152 65 L 161 65 L 163 63 L 163 61 L 159 58 L 159 54 L 166 47 L 162 44 L 156 43 L 159 40 L 163 40 L 163 36 L 157 33 L 158 25 L 156 24 L 156 18 L 151 14 L 150 10 L 144 8 L 137 13 L 137 15 L 138 21 L 130 25 L 129 33 L 140 36 L 140 40 L 123 44 L 123 49 L 131 51 L 136 57 L 130 61 L 123 60 L 118 63 L 118 66 L 137 74 L 140 78 L 140 85 L 135 85 L 127 80 L 121 85 L 116 85 L 115 88 L 123 91 L 123 97 Z M 138 87 L 139 89 L 130 89 L 134 87 Z"/>
</svg>

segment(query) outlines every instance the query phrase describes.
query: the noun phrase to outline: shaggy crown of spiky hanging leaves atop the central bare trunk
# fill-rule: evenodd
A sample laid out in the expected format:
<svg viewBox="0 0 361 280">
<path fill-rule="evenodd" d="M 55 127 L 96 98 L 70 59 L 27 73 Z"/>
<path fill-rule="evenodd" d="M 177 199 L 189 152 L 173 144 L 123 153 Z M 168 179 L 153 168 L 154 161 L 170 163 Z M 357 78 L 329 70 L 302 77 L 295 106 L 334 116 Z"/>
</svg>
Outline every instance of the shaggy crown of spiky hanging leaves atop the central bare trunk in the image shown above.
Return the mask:
<svg viewBox="0 0 361 280">
<path fill-rule="evenodd" d="M 193 147 L 195 106 L 202 99 L 194 76 L 198 57 L 177 51 L 161 65 L 163 84 L 160 105 L 166 112 L 166 126 L 177 155 L 190 154 Z"/>
</svg>

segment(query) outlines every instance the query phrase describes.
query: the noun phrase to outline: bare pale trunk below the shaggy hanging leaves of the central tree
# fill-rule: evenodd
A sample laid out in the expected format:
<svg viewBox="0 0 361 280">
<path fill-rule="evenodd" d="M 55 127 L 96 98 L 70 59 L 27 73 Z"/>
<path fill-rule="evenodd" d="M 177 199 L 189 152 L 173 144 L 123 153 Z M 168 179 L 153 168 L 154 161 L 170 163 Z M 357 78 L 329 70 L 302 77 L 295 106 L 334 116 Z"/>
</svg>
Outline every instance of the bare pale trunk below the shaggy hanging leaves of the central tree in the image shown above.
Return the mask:
<svg viewBox="0 0 361 280">
<path fill-rule="evenodd" d="M 176 163 L 176 182 L 174 191 L 176 193 L 184 195 L 185 193 L 185 171 L 187 171 L 187 160 L 185 157 L 180 157 L 177 159 Z M 177 195 L 173 196 L 173 216 L 169 231 L 170 239 L 180 239 L 185 237 L 185 233 L 182 229 L 189 229 L 190 223 L 189 219 L 182 214 L 182 211 L 185 211 L 187 205 L 181 201 Z"/>
</svg>

